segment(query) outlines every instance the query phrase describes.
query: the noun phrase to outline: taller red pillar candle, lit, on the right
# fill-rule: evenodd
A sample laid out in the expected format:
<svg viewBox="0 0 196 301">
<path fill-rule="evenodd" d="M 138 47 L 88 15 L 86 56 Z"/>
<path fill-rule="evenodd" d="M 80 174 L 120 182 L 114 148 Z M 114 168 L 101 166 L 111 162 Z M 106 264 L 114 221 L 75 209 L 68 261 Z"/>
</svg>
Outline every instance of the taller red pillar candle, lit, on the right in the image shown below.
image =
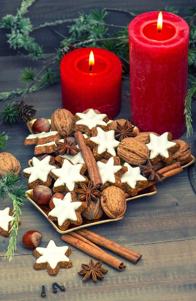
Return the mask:
<svg viewBox="0 0 196 301">
<path fill-rule="evenodd" d="M 132 122 L 141 131 L 170 131 L 176 139 L 185 130 L 189 28 L 163 12 L 158 30 L 157 17 L 145 13 L 129 25 Z"/>
</svg>

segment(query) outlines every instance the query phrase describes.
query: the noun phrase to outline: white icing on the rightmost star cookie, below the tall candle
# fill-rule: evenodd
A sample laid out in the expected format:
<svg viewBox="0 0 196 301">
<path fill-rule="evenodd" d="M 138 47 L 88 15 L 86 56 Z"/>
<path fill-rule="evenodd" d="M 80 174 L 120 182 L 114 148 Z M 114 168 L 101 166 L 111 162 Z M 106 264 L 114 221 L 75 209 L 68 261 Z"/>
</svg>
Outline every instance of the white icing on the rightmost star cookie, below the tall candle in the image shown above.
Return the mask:
<svg viewBox="0 0 196 301">
<path fill-rule="evenodd" d="M 156 136 L 153 133 L 149 134 L 150 143 L 146 144 L 150 150 L 150 160 L 160 155 L 164 158 L 169 158 L 168 148 L 174 146 L 176 143 L 168 141 L 168 132 L 165 132 L 161 136 Z"/>
</svg>

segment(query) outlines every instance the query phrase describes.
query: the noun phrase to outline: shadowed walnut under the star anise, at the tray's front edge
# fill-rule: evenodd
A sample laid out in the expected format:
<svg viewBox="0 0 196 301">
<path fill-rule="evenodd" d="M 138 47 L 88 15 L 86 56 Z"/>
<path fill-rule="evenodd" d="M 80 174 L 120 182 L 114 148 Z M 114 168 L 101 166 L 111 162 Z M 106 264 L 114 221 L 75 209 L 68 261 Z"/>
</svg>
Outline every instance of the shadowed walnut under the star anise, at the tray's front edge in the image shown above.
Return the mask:
<svg viewBox="0 0 196 301">
<path fill-rule="evenodd" d="M 88 220 L 99 219 L 103 215 L 103 209 L 101 207 L 100 198 L 97 198 L 97 201 L 91 200 L 87 208 L 82 212 Z"/>
</svg>

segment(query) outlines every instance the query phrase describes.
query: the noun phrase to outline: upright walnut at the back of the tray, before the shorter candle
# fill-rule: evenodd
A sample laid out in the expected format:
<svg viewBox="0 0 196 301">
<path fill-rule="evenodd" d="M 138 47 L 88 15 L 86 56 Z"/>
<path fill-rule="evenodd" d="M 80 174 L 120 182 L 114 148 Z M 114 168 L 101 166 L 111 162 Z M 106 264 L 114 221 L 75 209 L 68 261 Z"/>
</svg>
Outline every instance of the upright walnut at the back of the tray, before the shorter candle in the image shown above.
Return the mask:
<svg viewBox="0 0 196 301">
<path fill-rule="evenodd" d="M 66 109 L 57 109 L 51 116 L 51 129 L 57 130 L 62 137 L 72 136 L 73 114 Z"/>
</svg>

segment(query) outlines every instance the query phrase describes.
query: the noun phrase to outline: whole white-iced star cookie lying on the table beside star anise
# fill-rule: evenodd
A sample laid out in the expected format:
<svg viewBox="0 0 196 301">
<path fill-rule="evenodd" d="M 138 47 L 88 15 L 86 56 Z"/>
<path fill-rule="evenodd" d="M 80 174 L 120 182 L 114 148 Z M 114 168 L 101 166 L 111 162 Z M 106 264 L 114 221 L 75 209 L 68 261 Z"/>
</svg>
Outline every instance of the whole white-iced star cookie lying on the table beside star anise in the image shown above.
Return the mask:
<svg viewBox="0 0 196 301">
<path fill-rule="evenodd" d="M 72 262 L 68 258 L 70 254 L 71 249 L 68 246 L 57 247 L 51 240 L 46 248 L 38 247 L 33 251 L 33 255 L 37 258 L 34 269 L 46 269 L 51 276 L 56 275 L 60 268 L 72 266 Z"/>
</svg>

